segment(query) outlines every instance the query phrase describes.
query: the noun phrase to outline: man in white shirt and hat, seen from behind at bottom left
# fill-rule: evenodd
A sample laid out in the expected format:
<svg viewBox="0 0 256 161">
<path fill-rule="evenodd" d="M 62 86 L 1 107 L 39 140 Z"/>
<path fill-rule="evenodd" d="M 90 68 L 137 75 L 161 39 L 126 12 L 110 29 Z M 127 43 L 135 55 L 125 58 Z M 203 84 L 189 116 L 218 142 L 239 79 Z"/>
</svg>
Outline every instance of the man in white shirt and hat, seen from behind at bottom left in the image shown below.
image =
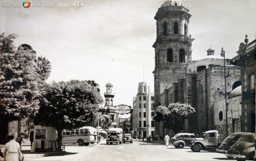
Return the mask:
<svg viewBox="0 0 256 161">
<path fill-rule="evenodd" d="M 15 135 L 9 134 L 7 137 L 10 139 L 4 145 L 4 160 L 6 161 L 19 161 L 22 160 L 20 152 L 20 144 L 14 140 Z"/>
</svg>

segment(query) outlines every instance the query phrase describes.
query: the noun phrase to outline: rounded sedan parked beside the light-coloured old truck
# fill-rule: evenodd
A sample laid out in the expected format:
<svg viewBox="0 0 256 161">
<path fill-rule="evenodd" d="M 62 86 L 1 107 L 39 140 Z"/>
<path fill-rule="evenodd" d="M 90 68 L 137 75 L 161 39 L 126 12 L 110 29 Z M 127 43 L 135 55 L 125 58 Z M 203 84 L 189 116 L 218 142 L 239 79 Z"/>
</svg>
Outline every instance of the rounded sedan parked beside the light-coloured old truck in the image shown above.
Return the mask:
<svg viewBox="0 0 256 161">
<path fill-rule="evenodd" d="M 190 133 L 179 133 L 171 138 L 171 145 L 175 148 L 183 148 L 184 146 L 189 146 L 191 141 L 196 138 L 194 134 Z"/>
</svg>

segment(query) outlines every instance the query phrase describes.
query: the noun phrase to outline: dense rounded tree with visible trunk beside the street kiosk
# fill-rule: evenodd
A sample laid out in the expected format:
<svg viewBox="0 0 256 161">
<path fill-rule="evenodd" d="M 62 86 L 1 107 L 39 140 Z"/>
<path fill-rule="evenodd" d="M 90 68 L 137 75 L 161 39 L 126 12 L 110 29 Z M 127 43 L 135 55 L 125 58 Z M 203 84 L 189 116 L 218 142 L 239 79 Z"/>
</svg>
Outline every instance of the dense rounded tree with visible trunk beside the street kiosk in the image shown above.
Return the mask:
<svg viewBox="0 0 256 161">
<path fill-rule="evenodd" d="M 83 127 L 94 120 L 98 104 L 102 103 L 96 87 L 78 80 L 47 84 L 43 98 L 34 123 L 58 131 L 58 150 L 61 150 L 62 131 Z"/>
</svg>

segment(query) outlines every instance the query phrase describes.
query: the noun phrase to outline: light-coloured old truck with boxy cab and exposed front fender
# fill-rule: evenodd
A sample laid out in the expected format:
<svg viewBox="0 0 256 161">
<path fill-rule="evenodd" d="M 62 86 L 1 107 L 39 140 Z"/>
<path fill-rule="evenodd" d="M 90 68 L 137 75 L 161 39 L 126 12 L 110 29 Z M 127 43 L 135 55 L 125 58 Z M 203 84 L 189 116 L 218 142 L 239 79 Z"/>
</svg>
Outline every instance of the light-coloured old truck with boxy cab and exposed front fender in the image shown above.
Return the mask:
<svg viewBox="0 0 256 161">
<path fill-rule="evenodd" d="M 201 150 L 211 151 L 219 147 L 219 136 L 217 130 L 210 130 L 204 132 L 204 138 L 195 138 L 190 145 L 190 149 L 194 152 Z"/>
</svg>

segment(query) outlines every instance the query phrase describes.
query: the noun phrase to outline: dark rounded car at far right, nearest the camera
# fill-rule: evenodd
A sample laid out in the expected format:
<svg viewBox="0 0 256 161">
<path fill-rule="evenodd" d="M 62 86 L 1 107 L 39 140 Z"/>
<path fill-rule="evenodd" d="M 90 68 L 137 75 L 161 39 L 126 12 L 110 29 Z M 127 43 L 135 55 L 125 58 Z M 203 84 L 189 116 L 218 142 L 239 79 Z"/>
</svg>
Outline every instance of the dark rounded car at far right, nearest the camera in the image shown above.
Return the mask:
<svg viewBox="0 0 256 161">
<path fill-rule="evenodd" d="M 253 160 L 255 151 L 255 133 L 243 134 L 226 153 L 227 157 L 236 157 L 236 160 Z"/>
</svg>

